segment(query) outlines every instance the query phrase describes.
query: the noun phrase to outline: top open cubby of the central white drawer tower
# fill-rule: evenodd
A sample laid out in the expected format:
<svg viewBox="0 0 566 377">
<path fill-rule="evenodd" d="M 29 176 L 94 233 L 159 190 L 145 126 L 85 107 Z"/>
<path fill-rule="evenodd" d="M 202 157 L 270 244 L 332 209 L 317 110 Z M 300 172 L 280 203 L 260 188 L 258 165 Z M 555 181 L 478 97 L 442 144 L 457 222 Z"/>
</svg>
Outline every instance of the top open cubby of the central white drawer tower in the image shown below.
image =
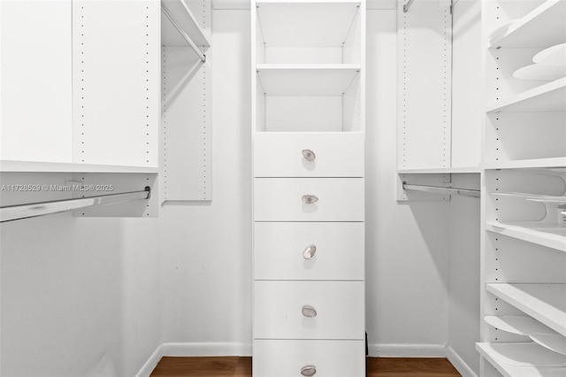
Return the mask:
<svg viewBox="0 0 566 377">
<path fill-rule="evenodd" d="M 359 1 L 256 1 L 258 64 L 359 64 Z"/>
</svg>

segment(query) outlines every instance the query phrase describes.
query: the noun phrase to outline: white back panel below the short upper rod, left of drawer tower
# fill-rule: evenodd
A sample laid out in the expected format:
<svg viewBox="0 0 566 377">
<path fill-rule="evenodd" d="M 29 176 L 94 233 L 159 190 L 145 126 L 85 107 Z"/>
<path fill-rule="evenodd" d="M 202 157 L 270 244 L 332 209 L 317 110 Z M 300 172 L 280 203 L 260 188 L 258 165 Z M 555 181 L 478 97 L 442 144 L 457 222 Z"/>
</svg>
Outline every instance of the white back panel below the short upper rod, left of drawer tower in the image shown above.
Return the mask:
<svg viewBox="0 0 566 377">
<path fill-rule="evenodd" d="M 164 46 L 161 179 L 164 200 L 212 197 L 210 59 L 187 47 Z"/>
</svg>

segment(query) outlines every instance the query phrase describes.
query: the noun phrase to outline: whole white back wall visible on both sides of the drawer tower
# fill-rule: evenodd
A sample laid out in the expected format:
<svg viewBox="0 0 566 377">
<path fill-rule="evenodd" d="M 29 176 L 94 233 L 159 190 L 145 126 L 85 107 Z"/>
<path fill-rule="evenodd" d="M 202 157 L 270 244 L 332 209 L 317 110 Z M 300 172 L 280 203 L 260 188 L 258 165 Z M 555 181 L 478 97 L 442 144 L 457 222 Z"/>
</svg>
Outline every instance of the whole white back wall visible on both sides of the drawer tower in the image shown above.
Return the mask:
<svg viewBox="0 0 566 377">
<path fill-rule="evenodd" d="M 213 200 L 162 209 L 163 341 L 184 354 L 249 354 L 249 11 L 212 17 Z M 395 201 L 395 32 L 394 10 L 368 12 L 366 322 L 373 354 L 437 354 L 447 342 L 448 205 Z"/>
</svg>

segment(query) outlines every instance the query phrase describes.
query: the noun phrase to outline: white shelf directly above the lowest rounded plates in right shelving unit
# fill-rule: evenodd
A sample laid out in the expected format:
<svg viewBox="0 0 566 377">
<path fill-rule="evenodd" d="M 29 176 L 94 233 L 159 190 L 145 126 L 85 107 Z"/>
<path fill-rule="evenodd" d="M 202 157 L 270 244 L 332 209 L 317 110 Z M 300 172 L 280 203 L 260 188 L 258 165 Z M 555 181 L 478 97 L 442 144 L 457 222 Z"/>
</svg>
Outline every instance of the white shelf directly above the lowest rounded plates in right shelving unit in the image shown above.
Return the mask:
<svg viewBox="0 0 566 377">
<path fill-rule="evenodd" d="M 486 290 L 566 336 L 566 284 L 487 283 Z"/>
</svg>

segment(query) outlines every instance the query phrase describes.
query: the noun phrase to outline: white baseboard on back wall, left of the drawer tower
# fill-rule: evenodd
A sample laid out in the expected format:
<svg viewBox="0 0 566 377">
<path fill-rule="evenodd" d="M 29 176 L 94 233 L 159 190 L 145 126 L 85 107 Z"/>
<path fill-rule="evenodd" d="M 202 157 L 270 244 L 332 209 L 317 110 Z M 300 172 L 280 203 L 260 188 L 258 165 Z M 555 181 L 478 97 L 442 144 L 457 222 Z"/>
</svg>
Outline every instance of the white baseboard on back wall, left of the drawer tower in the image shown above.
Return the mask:
<svg viewBox="0 0 566 377">
<path fill-rule="evenodd" d="M 161 346 L 163 356 L 251 356 L 251 344 L 239 342 L 167 342 Z"/>
</svg>

